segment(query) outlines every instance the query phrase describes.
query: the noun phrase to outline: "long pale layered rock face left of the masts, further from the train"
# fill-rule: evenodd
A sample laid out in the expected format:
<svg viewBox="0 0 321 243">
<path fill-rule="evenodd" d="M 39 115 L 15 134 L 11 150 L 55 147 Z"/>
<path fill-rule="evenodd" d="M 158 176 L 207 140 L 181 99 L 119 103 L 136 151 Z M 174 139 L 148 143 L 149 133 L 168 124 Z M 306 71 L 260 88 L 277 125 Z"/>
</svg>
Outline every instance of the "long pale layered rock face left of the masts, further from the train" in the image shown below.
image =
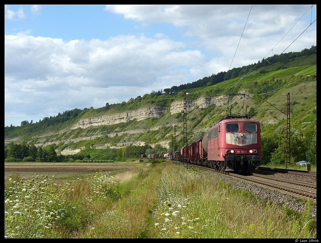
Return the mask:
<svg viewBox="0 0 321 243">
<path fill-rule="evenodd" d="M 160 117 L 164 112 L 165 110 L 163 108 L 151 107 L 105 115 L 102 117 L 85 118 L 78 120 L 77 124 L 73 125 L 71 129 L 76 129 L 78 127 L 86 128 L 89 126 L 111 125 L 120 122 L 127 122 L 133 119 L 140 121 L 149 117 Z"/>
</svg>

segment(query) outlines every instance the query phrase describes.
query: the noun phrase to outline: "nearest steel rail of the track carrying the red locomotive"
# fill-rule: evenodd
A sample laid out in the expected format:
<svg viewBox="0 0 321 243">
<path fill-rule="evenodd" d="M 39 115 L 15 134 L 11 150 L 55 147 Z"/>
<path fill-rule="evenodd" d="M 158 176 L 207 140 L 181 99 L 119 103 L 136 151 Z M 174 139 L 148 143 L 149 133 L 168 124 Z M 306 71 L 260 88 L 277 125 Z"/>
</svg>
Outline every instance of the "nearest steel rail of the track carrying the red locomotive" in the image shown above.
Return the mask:
<svg viewBox="0 0 321 243">
<path fill-rule="evenodd" d="M 176 161 L 176 162 L 183 163 L 181 161 Z M 220 172 L 220 171 L 218 171 L 216 169 L 203 167 L 203 166 L 199 166 L 199 165 L 195 165 L 195 164 L 191 164 L 191 163 L 188 163 L 188 164 L 190 166 L 197 167 L 197 168 L 200 168 L 200 169 L 206 169 L 206 170 L 214 171 L 214 172 L 217 172 L 217 173 L 220 173 L 220 174 L 229 175 L 231 177 L 236 177 L 236 178 L 239 178 L 239 179 L 252 181 L 252 182 L 255 182 L 255 183 L 258 183 L 258 184 L 261 184 L 261 185 L 265 185 L 265 186 L 268 186 L 268 187 L 273 187 L 273 188 L 281 189 L 281 190 L 284 190 L 284 191 L 287 191 L 287 192 L 291 192 L 291 193 L 294 193 L 294 194 L 299 194 L 299 195 L 311 197 L 313 199 L 317 199 L 317 193 L 313 192 L 313 191 L 303 190 L 303 189 L 300 189 L 300 188 L 295 188 L 295 187 L 290 187 L 290 186 L 285 186 L 285 185 L 280 185 L 280 184 L 269 182 L 269 181 L 265 181 L 265 180 L 262 180 L 262 179 L 256 179 L 256 178 L 251 178 L 251 177 L 248 177 L 248 176 L 242 176 L 242 175 L 234 174 L 234 173 L 231 173 L 231 172 L 230 173 L 224 173 L 224 172 L 222 173 L 222 172 Z"/>
</svg>

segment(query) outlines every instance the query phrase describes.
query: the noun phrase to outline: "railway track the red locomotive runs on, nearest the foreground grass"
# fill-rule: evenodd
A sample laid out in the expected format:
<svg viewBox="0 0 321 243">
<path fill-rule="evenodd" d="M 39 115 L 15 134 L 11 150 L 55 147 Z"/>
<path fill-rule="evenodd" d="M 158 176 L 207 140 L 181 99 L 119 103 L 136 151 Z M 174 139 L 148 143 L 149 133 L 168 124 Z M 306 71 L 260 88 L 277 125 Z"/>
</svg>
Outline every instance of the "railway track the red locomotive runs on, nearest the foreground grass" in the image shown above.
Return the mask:
<svg viewBox="0 0 321 243">
<path fill-rule="evenodd" d="M 176 161 L 182 163 L 180 161 Z M 185 164 L 185 163 L 184 163 Z M 264 185 L 272 190 L 283 191 L 290 194 L 300 195 L 304 197 L 310 197 L 313 199 L 317 199 L 317 184 L 295 181 L 290 179 L 277 178 L 272 176 L 264 176 L 260 174 L 251 174 L 251 175 L 240 175 L 238 173 L 222 173 L 218 170 L 207 168 L 199 165 L 194 165 L 188 163 L 189 166 L 193 166 L 196 168 L 206 169 L 209 171 L 214 171 L 216 173 L 221 173 L 224 175 L 229 175 L 231 177 L 239 178 L 245 181 L 251 181 L 259 185 Z M 262 168 L 262 167 L 261 167 Z M 271 168 L 269 168 L 271 169 Z M 283 172 L 286 173 L 286 172 Z"/>
</svg>

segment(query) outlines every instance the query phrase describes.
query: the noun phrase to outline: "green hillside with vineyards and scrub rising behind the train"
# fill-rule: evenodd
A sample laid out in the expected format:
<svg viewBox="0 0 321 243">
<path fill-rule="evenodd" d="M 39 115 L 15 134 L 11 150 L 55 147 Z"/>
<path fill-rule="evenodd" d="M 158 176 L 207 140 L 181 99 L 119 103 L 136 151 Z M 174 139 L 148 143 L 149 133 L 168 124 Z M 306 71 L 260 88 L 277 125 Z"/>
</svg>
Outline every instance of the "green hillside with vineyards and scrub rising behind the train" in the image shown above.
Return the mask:
<svg viewBox="0 0 321 243">
<path fill-rule="evenodd" d="M 132 156 L 131 154 L 135 154 L 135 156 L 139 154 L 137 151 L 148 153 L 147 150 L 149 149 L 152 152 L 151 148 L 154 148 L 154 153 L 166 152 L 165 147 L 171 146 L 174 125 L 178 126 L 177 141 L 178 148 L 180 148 L 182 146 L 183 116 L 182 113 L 171 114 L 170 106 L 172 102 L 183 100 L 184 92 L 188 92 L 193 94 L 187 96 L 189 100 L 196 100 L 202 96 L 210 97 L 216 95 L 221 97 L 229 93 L 248 94 L 250 99 L 247 99 L 247 111 L 254 119 L 261 122 L 262 143 L 265 144 L 268 141 L 264 146 L 269 148 L 266 150 L 265 162 L 269 162 L 273 160 L 273 156 L 277 157 L 274 154 L 282 155 L 284 150 L 283 140 L 286 116 L 267 102 L 264 102 L 257 94 L 262 94 L 260 97 L 284 112 L 286 110 L 287 97 L 281 94 L 290 92 L 292 140 L 293 144 L 295 144 L 293 146 L 296 146 L 292 150 L 293 161 L 308 160 L 308 154 L 313 154 L 312 147 L 314 145 L 313 143 L 311 145 L 311 141 L 316 136 L 316 54 L 292 58 L 291 55 L 288 55 L 288 57 L 289 59 L 259 67 L 254 72 L 246 75 L 245 78 L 241 78 L 242 76 L 239 75 L 214 85 L 207 82 L 202 87 L 181 89 L 178 92 L 161 93 L 160 91 L 153 91 L 151 94 L 145 94 L 142 97 L 138 96 L 120 104 L 106 104 L 105 107 L 97 109 L 92 107 L 89 109 L 74 109 L 65 111 L 62 114 L 59 113 L 55 117 L 45 117 L 37 123 L 28 124 L 25 122 L 22 126 L 5 127 L 5 158 L 8 149 L 13 143 L 25 143 L 27 144 L 26 146 L 28 144 L 44 145 L 47 147 L 53 144 L 58 152 L 65 148 L 73 150 L 85 147 L 85 150 L 78 153 L 80 159 L 86 155 L 90 155 L 88 156 L 89 158 L 95 159 L 113 160 L 117 156 L 118 159 L 121 159 L 121 153 L 125 154 L 124 157 L 126 157 L 126 154 L 130 157 Z M 264 94 L 270 91 L 275 92 Z M 242 104 L 235 104 L 232 107 L 235 114 L 241 112 Z M 160 107 L 165 110 L 165 113 L 159 118 L 147 118 L 140 121 L 134 119 L 126 123 L 71 129 L 79 119 L 146 107 Z M 224 117 L 226 115 L 224 109 L 226 109 L 225 104 L 212 104 L 204 109 L 195 109 L 188 114 L 187 135 L 189 142 L 202 137 L 216 121 Z M 265 137 L 266 141 L 264 140 Z M 107 144 L 107 150 L 98 149 L 93 151 L 91 149 L 91 147 L 101 144 Z M 111 152 L 110 148 L 115 151 Z M 121 150 L 121 152 L 117 149 Z M 167 150 L 169 151 L 170 149 Z M 24 155 L 28 155 L 28 153 L 26 152 Z M 22 154 L 20 159 L 24 155 Z M 10 157 L 10 152 L 8 156 Z M 276 161 L 275 158 L 273 162 L 282 163 L 282 160 Z"/>
</svg>

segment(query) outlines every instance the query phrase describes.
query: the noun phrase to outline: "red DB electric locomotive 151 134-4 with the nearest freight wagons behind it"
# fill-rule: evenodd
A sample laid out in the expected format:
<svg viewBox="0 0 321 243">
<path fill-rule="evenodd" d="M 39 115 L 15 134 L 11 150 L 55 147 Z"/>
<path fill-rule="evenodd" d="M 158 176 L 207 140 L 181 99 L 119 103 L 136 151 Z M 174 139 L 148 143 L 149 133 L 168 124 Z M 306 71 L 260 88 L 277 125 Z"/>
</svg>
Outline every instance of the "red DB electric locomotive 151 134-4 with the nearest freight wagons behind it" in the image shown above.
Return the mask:
<svg viewBox="0 0 321 243">
<path fill-rule="evenodd" d="M 260 122 L 246 116 L 226 116 L 203 138 L 184 146 L 180 161 L 221 171 L 250 171 L 260 165 Z"/>
</svg>

